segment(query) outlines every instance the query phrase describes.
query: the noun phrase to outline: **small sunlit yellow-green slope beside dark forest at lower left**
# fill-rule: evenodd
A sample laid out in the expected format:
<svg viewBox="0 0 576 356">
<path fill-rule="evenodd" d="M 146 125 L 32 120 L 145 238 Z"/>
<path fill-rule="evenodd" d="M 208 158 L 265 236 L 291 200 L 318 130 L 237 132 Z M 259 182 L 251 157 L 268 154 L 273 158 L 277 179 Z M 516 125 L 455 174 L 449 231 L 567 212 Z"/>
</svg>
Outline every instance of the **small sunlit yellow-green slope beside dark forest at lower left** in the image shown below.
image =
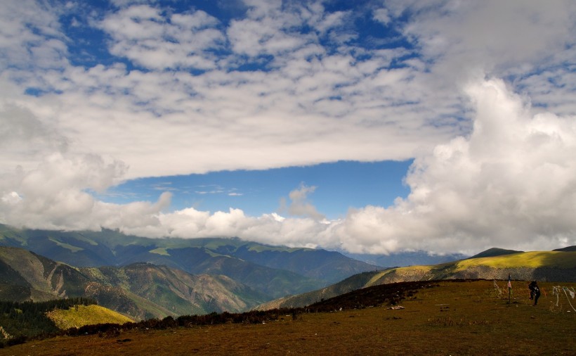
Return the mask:
<svg viewBox="0 0 576 356">
<path fill-rule="evenodd" d="M 100 307 L 100 305 L 77 305 L 68 310 L 55 309 L 46 313 L 58 329 L 79 328 L 84 325 L 94 324 L 124 324 L 133 322 L 129 317 L 125 317 L 114 310 Z"/>
</svg>

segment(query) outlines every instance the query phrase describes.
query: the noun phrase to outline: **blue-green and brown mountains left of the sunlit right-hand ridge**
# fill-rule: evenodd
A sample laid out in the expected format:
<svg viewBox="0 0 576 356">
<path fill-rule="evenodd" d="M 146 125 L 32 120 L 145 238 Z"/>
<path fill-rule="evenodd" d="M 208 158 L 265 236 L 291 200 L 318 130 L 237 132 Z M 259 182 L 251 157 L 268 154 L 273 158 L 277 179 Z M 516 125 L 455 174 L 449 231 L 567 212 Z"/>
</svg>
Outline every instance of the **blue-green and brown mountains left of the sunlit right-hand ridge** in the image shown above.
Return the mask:
<svg viewBox="0 0 576 356">
<path fill-rule="evenodd" d="M 0 298 L 83 296 L 133 319 L 243 312 L 381 269 L 327 250 L 240 239 L 146 239 L 112 230 L 0 224 L 0 246 Z"/>
</svg>

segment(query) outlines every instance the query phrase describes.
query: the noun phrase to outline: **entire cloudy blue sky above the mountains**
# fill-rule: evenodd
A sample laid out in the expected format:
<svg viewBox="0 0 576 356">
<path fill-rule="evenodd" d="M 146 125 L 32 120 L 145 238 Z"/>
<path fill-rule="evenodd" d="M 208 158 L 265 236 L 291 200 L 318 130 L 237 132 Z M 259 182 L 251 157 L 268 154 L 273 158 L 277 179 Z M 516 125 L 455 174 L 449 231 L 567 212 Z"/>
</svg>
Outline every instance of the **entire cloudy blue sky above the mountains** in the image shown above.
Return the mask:
<svg viewBox="0 0 576 356">
<path fill-rule="evenodd" d="M 576 3 L 3 0 L 0 222 L 576 245 Z"/>
</svg>

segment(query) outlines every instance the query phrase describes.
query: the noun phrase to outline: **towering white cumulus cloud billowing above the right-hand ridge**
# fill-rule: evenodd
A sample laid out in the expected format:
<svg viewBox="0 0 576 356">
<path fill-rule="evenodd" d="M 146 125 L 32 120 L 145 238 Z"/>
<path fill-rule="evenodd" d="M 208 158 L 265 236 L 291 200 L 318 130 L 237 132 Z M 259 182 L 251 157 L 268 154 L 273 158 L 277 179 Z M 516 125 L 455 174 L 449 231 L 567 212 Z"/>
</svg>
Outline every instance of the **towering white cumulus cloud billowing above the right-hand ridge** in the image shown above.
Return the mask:
<svg viewBox="0 0 576 356">
<path fill-rule="evenodd" d="M 417 158 L 407 198 L 350 212 L 332 231 L 346 248 L 471 253 L 576 243 L 575 117 L 533 115 L 502 80 L 473 84 L 468 94 L 476 107 L 470 136 Z"/>
</svg>

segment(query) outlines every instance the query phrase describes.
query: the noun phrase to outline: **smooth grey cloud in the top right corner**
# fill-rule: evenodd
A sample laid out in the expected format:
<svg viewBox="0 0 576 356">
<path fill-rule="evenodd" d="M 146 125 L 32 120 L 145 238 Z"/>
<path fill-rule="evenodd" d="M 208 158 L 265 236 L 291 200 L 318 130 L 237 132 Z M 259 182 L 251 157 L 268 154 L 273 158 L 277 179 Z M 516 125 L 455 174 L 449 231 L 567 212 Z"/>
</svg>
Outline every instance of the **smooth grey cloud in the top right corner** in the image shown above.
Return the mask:
<svg viewBox="0 0 576 356">
<path fill-rule="evenodd" d="M 402 33 L 428 61 L 439 89 L 491 75 L 513 78 L 534 97 L 532 86 L 522 83 L 527 75 L 542 75 L 542 82 L 548 80 L 543 71 L 571 75 L 565 64 L 574 58 L 576 44 L 573 1 L 398 0 L 386 1 L 384 10 L 391 18 L 409 14 Z M 544 102 L 556 109 L 554 101 Z"/>
</svg>

